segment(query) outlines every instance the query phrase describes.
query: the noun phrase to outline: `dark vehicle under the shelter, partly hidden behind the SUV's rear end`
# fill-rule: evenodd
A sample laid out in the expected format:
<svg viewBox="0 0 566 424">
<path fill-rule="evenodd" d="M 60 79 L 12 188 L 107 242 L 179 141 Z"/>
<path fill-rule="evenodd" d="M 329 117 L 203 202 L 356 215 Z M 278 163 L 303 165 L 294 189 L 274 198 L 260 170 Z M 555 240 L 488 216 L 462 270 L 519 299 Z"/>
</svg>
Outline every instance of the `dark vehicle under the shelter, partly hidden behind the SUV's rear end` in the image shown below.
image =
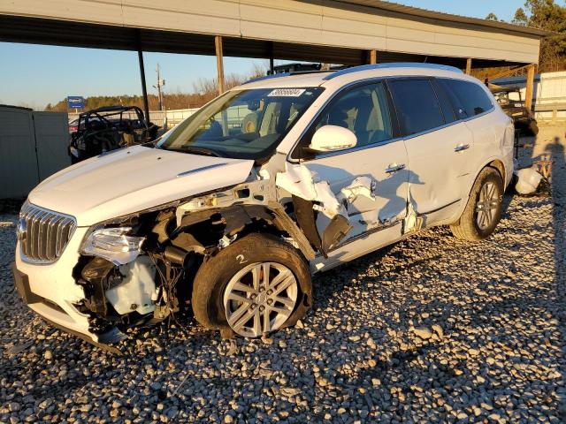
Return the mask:
<svg viewBox="0 0 566 424">
<path fill-rule="evenodd" d="M 518 132 L 531 136 L 539 133 L 537 120 L 532 111 L 524 106 L 524 100 L 519 88 L 490 84 L 489 89 L 495 96 L 495 100 L 497 100 L 501 109 L 513 119 Z"/>
</svg>

